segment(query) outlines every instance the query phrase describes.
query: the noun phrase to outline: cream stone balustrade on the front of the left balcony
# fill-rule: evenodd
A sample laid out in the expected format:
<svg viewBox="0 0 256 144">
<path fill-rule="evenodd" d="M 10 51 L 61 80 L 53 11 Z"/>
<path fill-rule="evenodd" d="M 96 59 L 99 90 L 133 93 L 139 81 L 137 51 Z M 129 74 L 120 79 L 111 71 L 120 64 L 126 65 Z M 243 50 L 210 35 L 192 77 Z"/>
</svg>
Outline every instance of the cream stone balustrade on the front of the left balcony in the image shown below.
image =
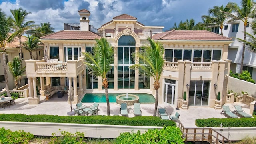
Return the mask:
<svg viewBox="0 0 256 144">
<path fill-rule="evenodd" d="M 62 63 L 50 63 L 50 62 L 39 62 L 36 63 L 37 72 L 67 72 L 68 66 L 66 62 Z"/>
</svg>

